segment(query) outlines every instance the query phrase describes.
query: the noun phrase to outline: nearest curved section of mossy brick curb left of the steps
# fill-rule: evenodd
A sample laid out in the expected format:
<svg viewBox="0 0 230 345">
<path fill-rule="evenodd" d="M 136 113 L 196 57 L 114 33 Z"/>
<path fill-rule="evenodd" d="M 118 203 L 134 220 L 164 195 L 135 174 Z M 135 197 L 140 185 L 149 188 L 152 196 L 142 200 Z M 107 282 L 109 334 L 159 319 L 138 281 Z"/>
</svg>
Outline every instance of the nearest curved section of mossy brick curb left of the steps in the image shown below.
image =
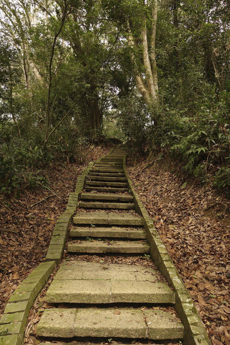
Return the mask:
<svg viewBox="0 0 230 345">
<path fill-rule="evenodd" d="M 55 262 L 42 263 L 11 295 L 0 320 L 0 345 L 23 344 L 24 329 L 34 299 L 46 284 Z"/>
</svg>

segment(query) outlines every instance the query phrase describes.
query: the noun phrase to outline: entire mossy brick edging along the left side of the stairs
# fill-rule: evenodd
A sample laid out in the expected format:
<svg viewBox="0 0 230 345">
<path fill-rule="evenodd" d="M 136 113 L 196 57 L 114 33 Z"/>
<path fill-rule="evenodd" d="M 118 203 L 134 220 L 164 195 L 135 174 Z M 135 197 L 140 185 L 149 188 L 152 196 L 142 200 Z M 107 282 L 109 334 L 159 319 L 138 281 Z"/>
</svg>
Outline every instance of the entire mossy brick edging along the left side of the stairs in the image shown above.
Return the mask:
<svg viewBox="0 0 230 345">
<path fill-rule="evenodd" d="M 76 211 L 86 175 L 91 171 L 93 164 L 94 162 L 90 162 L 87 169 L 78 176 L 75 192 L 69 195 L 66 211 L 58 217 L 46 255 L 46 262 L 34 268 L 32 273 L 12 293 L 0 320 L 0 345 L 23 344 L 24 330 L 30 308 L 56 264 L 61 262 L 68 228 Z"/>
</svg>

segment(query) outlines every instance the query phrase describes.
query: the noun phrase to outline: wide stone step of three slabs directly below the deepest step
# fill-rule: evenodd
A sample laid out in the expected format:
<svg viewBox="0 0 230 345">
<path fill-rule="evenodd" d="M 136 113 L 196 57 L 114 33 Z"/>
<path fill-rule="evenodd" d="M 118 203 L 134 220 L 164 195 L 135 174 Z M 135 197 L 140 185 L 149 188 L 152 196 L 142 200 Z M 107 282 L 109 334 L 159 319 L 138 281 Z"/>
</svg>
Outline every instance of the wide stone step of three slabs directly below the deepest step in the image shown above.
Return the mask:
<svg viewBox="0 0 230 345">
<path fill-rule="evenodd" d="M 120 312 L 120 314 L 118 313 Z M 42 337 L 182 339 L 184 327 L 162 310 L 124 308 L 45 309 L 37 326 Z"/>
</svg>

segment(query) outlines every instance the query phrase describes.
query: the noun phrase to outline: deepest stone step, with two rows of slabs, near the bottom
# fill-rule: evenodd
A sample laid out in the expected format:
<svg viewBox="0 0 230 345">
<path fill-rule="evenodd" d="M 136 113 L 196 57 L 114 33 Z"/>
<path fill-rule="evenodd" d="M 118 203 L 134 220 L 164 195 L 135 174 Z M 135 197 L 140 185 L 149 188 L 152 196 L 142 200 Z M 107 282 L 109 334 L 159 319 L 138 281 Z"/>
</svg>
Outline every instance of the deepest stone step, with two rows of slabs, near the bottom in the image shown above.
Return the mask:
<svg viewBox="0 0 230 345">
<path fill-rule="evenodd" d="M 64 262 L 47 291 L 47 302 L 175 304 L 174 291 L 157 273 L 145 266 Z"/>
</svg>

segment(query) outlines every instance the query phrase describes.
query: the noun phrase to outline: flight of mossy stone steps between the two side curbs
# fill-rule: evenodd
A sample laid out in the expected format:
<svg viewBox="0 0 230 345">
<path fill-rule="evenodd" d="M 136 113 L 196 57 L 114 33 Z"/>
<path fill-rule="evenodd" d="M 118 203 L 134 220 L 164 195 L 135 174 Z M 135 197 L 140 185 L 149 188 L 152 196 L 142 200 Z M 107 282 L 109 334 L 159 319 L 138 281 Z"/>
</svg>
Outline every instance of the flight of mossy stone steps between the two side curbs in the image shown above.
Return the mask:
<svg viewBox="0 0 230 345">
<path fill-rule="evenodd" d="M 176 312 L 167 311 L 176 303 L 175 292 L 159 279 L 157 270 L 81 260 L 82 253 L 150 253 L 144 220 L 133 211 L 133 198 L 128 194 L 122 169 L 125 154 L 125 147 L 115 148 L 99 159 L 87 176 L 70 230 L 68 252 L 74 255 L 73 260 L 62 264 L 47 291 L 47 302 L 65 307 L 45 309 L 37 326 L 38 336 L 78 342 L 86 337 L 88 342 L 113 338 L 120 343 L 133 339 L 175 343 L 184 337 Z"/>
</svg>

